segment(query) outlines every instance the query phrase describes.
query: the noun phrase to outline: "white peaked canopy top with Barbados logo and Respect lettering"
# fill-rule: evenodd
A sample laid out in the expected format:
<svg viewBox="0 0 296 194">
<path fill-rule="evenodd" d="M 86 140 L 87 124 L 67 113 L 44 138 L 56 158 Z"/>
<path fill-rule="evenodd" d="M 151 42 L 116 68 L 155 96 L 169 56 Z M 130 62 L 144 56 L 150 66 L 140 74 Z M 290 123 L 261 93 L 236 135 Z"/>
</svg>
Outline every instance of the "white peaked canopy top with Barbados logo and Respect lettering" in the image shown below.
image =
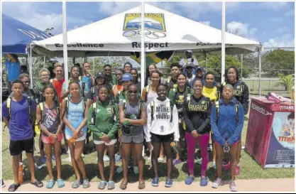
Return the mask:
<svg viewBox="0 0 296 194">
<path fill-rule="evenodd" d="M 184 53 L 221 51 L 222 31 L 204 23 L 145 4 L 145 52 L 175 50 Z M 261 50 L 261 43 L 225 33 L 226 54 Z M 33 42 L 35 53 L 62 57 L 63 34 Z M 101 21 L 67 31 L 67 56 L 126 56 L 141 52 L 141 6 Z"/>
</svg>

